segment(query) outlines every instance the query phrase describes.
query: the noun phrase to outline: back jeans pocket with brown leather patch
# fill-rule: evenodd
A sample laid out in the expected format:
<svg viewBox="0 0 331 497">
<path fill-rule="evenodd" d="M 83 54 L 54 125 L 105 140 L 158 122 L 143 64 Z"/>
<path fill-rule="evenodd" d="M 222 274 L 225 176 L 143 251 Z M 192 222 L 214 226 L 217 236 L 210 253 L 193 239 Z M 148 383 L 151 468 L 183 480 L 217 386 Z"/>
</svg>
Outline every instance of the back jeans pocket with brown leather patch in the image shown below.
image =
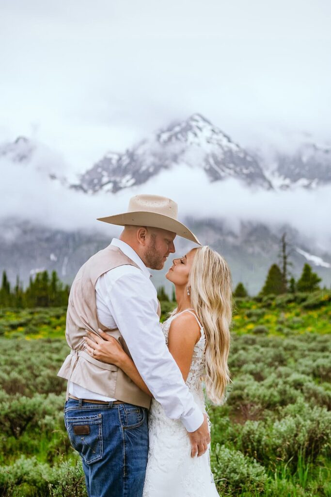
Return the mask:
<svg viewBox="0 0 331 497">
<path fill-rule="evenodd" d="M 66 430 L 72 447 L 86 464 L 103 456 L 102 415 L 66 417 Z"/>
</svg>

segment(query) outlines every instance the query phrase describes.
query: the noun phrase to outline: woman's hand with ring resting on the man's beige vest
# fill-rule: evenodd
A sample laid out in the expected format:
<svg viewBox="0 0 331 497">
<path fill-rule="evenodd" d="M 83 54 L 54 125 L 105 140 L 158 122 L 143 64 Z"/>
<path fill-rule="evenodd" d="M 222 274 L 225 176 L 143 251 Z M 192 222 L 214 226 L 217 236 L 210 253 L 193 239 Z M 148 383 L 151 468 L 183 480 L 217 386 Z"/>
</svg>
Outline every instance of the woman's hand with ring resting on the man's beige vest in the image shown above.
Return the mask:
<svg viewBox="0 0 331 497">
<path fill-rule="evenodd" d="M 115 366 L 121 367 L 122 362 L 128 357 L 126 352 L 116 338 L 109 336 L 107 333 L 100 330 L 100 328 L 98 331 L 102 338 L 97 334 L 86 330 L 87 336 L 84 336 L 85 351 L 88 355 L 98 361 L 115 364 Z"/>
</svg>

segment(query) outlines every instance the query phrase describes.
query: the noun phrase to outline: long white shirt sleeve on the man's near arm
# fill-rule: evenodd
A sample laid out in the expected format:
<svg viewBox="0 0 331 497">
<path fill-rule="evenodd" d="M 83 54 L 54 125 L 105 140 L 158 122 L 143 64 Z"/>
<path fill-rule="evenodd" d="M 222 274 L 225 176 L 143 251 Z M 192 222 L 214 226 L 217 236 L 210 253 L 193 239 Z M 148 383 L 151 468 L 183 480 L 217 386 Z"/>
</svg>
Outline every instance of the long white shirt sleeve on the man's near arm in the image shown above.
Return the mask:
<svg viewBox="0 0 331 497">
<path fill-rule="evenodd" d="M 195 431 L 203 414 L 165 343 L 156 313 L 156 290 L 136 268 L 107 285 L 106 304 L 134 364 L 154 398 L 172 419 Z"/>
</svg>

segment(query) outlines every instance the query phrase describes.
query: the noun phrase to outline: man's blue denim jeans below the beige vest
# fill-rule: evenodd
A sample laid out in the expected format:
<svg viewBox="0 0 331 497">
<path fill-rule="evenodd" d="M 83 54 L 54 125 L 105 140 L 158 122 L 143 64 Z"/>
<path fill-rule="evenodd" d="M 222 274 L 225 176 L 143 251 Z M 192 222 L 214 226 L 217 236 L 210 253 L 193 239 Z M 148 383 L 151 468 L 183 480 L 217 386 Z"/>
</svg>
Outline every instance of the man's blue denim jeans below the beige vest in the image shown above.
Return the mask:
<svg viewBox="0 0 331 497">
<path fill-rule="evenodd" d="M 89 497 L 141 497 L 148 455 L 148 410 L 69 399 L 65 424 L 79 453 Z"/>
</svg>

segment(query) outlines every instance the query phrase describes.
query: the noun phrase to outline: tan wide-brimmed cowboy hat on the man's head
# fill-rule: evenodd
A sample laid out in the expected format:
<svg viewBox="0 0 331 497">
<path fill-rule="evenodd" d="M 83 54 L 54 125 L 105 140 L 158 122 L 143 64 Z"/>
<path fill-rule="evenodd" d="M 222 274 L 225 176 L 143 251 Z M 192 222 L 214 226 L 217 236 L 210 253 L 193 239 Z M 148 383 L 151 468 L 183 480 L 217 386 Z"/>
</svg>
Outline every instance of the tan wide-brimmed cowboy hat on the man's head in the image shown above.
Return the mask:
<svg viewBox="0 0 331 497">
<path fill-rule="evenodd" d="M 192 231 L 177 221 L 177 215 L 178 205 L 170 198 L 158 195 L 135 195 L 130 199 L 128 212 L 98 218 L 98 221 L 118 226 L 133 225 L 162 228 L 201 245 Z"/>
</svg>

